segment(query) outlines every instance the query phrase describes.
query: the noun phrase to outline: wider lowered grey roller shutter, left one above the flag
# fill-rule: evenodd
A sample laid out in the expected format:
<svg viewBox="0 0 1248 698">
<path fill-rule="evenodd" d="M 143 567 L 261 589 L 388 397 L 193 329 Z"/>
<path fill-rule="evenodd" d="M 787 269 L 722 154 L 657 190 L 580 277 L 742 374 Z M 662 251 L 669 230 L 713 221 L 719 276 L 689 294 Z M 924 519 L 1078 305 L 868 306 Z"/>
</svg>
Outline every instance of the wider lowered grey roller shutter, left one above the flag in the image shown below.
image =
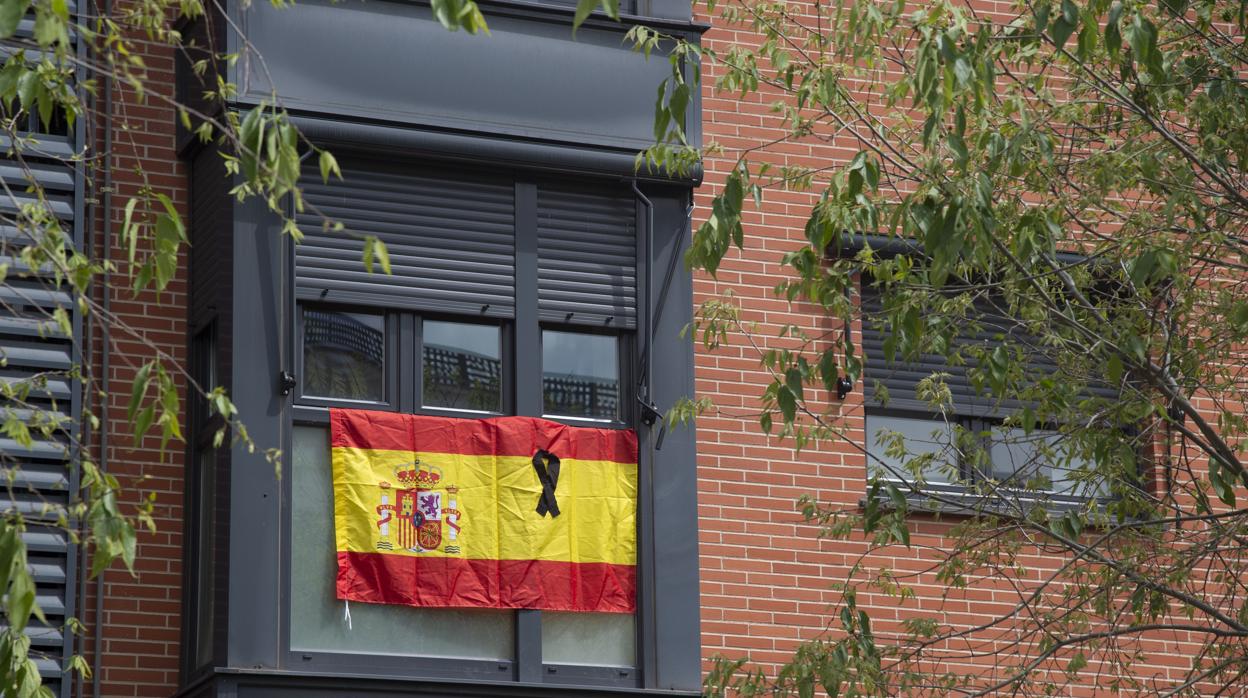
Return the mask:
<svg viewBox="0 0 1248 698">
<path fill-rule="evenodd" d="M 313 169 L 314 170 L 314 169 Z M 342 181 L 305 174 L 300 298 L 512 317 L 515 189 L 510 180 L 358 161 Z M 322 216 L 344 232 L 324 232 Z M 354 236 L 352 235 L 354 233 Z M 368 273 L 362 235 L 386 243 L 391 275 Z"/>
</svg>

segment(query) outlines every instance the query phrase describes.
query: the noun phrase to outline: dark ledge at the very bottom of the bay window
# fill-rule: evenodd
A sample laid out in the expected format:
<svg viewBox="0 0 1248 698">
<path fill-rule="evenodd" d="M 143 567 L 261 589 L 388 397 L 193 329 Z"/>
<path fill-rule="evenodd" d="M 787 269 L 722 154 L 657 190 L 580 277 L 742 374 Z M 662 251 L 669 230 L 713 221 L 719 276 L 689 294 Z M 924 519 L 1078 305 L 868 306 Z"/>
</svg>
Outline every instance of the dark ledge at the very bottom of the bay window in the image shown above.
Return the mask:
<svg viewBox="0 0 1248 698">
<path fill-rule="evenodd" d="M 236 698 L 295 696 L 439 696 L 464 698 L 694 698 L 698 691 L 568 686 L 474 679 L 413 679 L 383 674 L 312 673 L 281 669 L 217 668 L 205 681 L 187 686 L 175 698 L 231 696 Z"/>
</svg>

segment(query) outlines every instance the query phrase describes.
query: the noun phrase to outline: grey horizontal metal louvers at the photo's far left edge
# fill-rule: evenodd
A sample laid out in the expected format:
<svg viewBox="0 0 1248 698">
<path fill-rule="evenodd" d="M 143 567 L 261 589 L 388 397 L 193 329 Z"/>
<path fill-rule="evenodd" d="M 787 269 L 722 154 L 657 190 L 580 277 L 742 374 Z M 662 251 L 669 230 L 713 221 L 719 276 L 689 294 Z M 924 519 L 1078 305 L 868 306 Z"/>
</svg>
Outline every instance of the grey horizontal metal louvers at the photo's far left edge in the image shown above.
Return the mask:
<svg viewBox="0 0 1248 698">
<path fill-rule="evenodd" d="M 35 135 L 37 145 L 24 149 L 31 175 L 44 187 L 51 211 L 60 219 L 62 230 L 76 231 L 81 219 L 76 196 L 77 177 L 71 166 L 59 162 L 69 159 L 74 147 L 64 136 Z M 7 139 L 0 150 L 7 150 Z M 0 177 L 9 185 L 19 205 L 35 202 L 36 196 L 26 192 L 27 182 L 21 167 L 11 160 L 0 160 Z M 0 210 L 12 214 L 15 202 L 0 196 Z M 77 325 L 77 305 L 70 293 L 55 285 L 47 270 L 31 270 L 16 255 L 30 243 L 25 232 L 12 226 L 0 226 L 0 263 L 9 272 L 0 285 L 0 381 L 14 387 L 30 386 L 27 407 L 41 410 L 69 420 L 76 420 L 74 411 L 79 390 L 66 376 L 74 363 L 74 347 L 55 323 L 51 313 L 64 308 Z M 69 422 L 75 428 L 74 422 Z M 44 686 L 56 696 L 69 696 L 70 683 L 64 681 L 62 662 L 71 651 L 71 639 L 64 633 L 65 618 L 72 613 L 76 588 L 76 554 L 69 534 L 57 524 L 71 498 L 76 494 L 76 478 L 67 467 L 70 433 L 54 440 L 36 441 L 31 448 L 9 438 L 0 438 L 0 467 L 4 477 L 14 478 L 11 497 L 4 507 L 16 511 L 26 521 L 22 538 L 27 559 L 35 578 L 35 596 L 47 623 L 30 619 L 26 634 L 30 637 L 30 657 L 39 666 Z"/>
</svg>

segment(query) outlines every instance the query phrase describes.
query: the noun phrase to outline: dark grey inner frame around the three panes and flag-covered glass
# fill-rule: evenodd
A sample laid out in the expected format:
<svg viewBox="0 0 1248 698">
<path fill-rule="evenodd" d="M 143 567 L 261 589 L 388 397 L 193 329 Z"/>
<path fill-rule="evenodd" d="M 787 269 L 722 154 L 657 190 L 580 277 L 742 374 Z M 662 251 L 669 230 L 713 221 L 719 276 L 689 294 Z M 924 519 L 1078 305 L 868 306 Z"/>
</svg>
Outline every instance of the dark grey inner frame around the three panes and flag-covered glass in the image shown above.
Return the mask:
<svg viewBox="0 0 1248 698">
<path fill-rule="evenodd" d="M 497 172 L 494 172 L 497 175 Z M 448 312 L 421 312 L 417 310 L 392 310 L 379 308 L 359 303 L 332 303 L 318 302 L 308 298 L 295 300 L 293 316 L 298 327 L 293 333 L 293 347 L 291 351 L 298 373 L 296 380 L 298 392 L 292 402 L 291 426 L 326 426 L 328 423 L 329 407 L 356 407 L 374 408 L 386 411 L 398 411 L 416 415 L 453 416 L 463 418 L 488 418 L 500 415 L 529 415 L 542 416 L 543 412 L 543 385 L 542 385 L 542 331 L 559 330 L 570 332 L 583 332 L 600 336 L 613 336 L 619 342 L 619 376 L 620 376 L 620 418 L 615 421 L 588 421 L 575 417 L 550 416 L 553 421 L 600 428 L 634 428 L 636 417 L 636 366 L 629 358 L 639 357 L 641 341 L 636 337 L 636 331 L 615 327 L 614 325 L 578 325 L 568 322 L 542 321 L 538 308 L 537 286 L 537 187 L 562 184 L 559 179 L 549 175 L 525 175 L 517 172 L 517 255 L 515 255 L 515 288 L 517 303 L 515 313 L 512 318 L 479 317 L 466 313 Z M 569 180 L 568 184 L 572 184 Z M 622 191 L 628 191 L 628 184 L 614 182 Z M 629 195 L 631 196 L 631 194 Z M 644 236 L 645 226 L 644 210 L 640 204 L 635 206 L 634 226 L 638 231 L 638 252 L 645 255 Z M 533 250 L 533 255 L 524 255 L 524 250 Z M 293 278 L 293 250 L 287 253 L 290 277 Z M 639 276 L 644 270 L 645 257 L 636 258 Z M 638 290 L 638 295 L 644 293 Z M 638 303 L 639 322 L 644 311 L 643 303 Z M 303 396 L 303 366 L 302 366 L 302 312 L 305 306 L 323 307 L 329 310 L 358 311 L 358 312 L 386 312 L 387 327 L 387 370 L 386 370 L 386 395 L 384 402 L 343 401 Z M 441 320 L 453 322 L 467 322 L 478 325 L 492 325 L 502 328 L 502 357 L 503 357 L 503 411 L 462 411 L 439 407 L 428 407 L 422 403 L 423 391 L 423 320 Z M 648 318 L 646 318 L 648 320 Z M 396 331 L 397 330 L 397 331 Z M 523 342 L 523 343 L 522 343 Z M 393 358 L 391 358 L 393 357 Z M 411 375 L 409 375 L 411 373 Z M 532 380 L 537 377 L 537 380 Z M 528 383 L 525 380 L 528 378 Z M 389 396 L 394 396 L 393 400 Z M 644 451 L 644 450 L 643 450 Z M 286 452 L 291 452 L 290 443 L 286 443 Z M 639 481 L 649 482 L 648 474 L 653 467 L 646 455 L 640 455 Z M 290 501 L 291 479 L 283 478 L 282 499 Z M 644 493 L 639 496 L 639 522 L 641 511 L 653 509 L 653 502 Z M 291 516 L 283 511 L 281 518 L 285 553 L 281 557 L 281 588 L 290 589 L 291 584 Z M 653 536 L 646 527 L 639 523 L 639 548 L 643 547 L 643 538 Z M 648 542 L 653 547 L 653 541 Z M 639 556 L 640 557 L 640 556 Z M 291 649 L 290 614 L 282 614 L 281 622 L 281 647 L 285 648 L 286 666 L 312 672 L 379 672 L 388 676 L 403 676 L 411 678 L 447 678 L 447 679 L 477 679 L 477 681 L 505 681 L 510 679 L 518 686 L 524 683 L 542 682 L 548 684 L 564 684 L 570 687 L 617 687 L 640 688 L 643 687 L 643 672 L 640 664 L 645 649 L 645 632 L 643 629 L 643 608 L 646 607 L 641 592 L 641 577 L 644 573 L 643 561 L 638 561 L 639 579 L 639 604 L 635 613 L 636 641 L 635 664 L 633 667 L 614 666 L 584 666 L 584 664 L 559 664 L 540 662 L 542 626 L 540 612 L 515 611 L 515 656 L 509 661 L 483 661 L 446 657 L 362 657 L 359 654 L 334 653 L 334 652 L 308 652 Z M 288 599 L 283 598 L 288 604 Z M 653 644 L 653 643 L 650 643 Z M 651 648 L 653 649 L 653 648 Z"/>
</svg>

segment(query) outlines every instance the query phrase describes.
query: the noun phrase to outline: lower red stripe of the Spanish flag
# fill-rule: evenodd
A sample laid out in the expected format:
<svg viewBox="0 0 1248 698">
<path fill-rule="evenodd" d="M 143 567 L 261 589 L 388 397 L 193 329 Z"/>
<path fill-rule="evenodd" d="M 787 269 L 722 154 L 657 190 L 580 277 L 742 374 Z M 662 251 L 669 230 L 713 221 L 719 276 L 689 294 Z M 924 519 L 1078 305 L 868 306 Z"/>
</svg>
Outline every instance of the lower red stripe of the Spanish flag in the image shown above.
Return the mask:
<svg viewBox="0 0 1248 698">
<path fill-rule="evenodd" d="M 337 592 L 366 603 L 633 613 L 636 567 L 338 552 Z"/>
</svg>

